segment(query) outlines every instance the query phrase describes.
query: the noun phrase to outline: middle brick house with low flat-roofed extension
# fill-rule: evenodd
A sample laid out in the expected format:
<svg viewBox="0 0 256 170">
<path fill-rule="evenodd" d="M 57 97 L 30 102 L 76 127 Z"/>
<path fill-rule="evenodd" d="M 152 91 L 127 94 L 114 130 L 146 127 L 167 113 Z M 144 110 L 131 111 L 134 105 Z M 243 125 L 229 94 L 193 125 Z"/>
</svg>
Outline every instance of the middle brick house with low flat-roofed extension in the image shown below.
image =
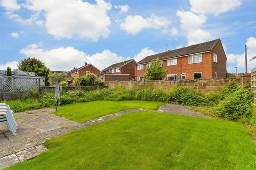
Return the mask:
<svg viewBox="0 0 256 170">
<path fill-rule="evenodd" d="M 134 64 L 135 60 L 127 60 L 120 63 L 115 63 L 102 70 L 102 74 L 98 77 L 101 81 L 130 81 L 134 80 Z"/>
</svg>

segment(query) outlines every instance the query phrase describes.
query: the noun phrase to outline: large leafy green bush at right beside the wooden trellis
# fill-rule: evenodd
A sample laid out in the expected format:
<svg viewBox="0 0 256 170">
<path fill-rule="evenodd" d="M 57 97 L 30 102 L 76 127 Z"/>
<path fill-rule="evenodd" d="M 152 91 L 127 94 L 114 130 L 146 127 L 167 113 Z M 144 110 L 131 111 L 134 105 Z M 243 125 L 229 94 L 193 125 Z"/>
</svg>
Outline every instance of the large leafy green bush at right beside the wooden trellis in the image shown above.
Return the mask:
<svg viewBox="0 0 256 170">
<path fill-rule="evenodd" d="M 231 91 L 229 94 L 225 93 L 225 98 L 213 107 L 212 112 L 215 116 L 231 121 L 252 116 L 251 85 L 247 85 L 244 89 L 239 86 L 237 88 L 236 91 L 229 90 Z"/>
</svg>

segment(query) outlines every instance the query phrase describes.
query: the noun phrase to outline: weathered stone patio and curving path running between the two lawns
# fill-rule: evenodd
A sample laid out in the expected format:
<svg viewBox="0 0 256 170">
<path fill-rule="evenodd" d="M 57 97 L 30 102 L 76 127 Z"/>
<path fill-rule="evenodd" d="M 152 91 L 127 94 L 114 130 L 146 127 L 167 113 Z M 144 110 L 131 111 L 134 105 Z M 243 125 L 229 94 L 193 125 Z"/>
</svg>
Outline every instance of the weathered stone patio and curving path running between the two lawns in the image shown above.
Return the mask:
<svg viewBox="0 0 256 170">
<path fill-rule="evenodd" d="M 5 126 L 0 126 L 0 169 L 31 159 L 47 150 L 44 142 L 47 139 L 59 137 L 70 130 L 79 130 L 95 123 L 100 123 L 111 118 L 136 111 L 150 111 L 157 113 L 174 113 L 188 116 L 205 117 L 199 112 L 179 106 L 166 104 L 159 107 L 158 111 L 148 109 L 130 109 L 118 113 L 95 118 L 84 123 L 69 121 L 66 118 L 51 114 L 54 109 L 44 108 L 28 113 L 14 113 L 18 123 L 17 134 L 14 136 Z"/>
</svg>

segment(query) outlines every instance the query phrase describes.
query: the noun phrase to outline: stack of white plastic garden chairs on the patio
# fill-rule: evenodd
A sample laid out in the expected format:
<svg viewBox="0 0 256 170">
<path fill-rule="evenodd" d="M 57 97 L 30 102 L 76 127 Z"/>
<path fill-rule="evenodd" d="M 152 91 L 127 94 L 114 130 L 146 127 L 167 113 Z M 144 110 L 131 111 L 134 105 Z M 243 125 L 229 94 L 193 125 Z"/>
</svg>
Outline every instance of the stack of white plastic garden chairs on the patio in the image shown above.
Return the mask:
<svg viewBox="0 0 256 170">
<path fill-rule="evenodd" d="M 9 105 L 4 103 L 0 103 L 0 124 L 7 125 L 9 131 L 11 131 L 13 135 L 16 134 L 17 123 L 13 117 L 13 112 Z"/>
</svg>

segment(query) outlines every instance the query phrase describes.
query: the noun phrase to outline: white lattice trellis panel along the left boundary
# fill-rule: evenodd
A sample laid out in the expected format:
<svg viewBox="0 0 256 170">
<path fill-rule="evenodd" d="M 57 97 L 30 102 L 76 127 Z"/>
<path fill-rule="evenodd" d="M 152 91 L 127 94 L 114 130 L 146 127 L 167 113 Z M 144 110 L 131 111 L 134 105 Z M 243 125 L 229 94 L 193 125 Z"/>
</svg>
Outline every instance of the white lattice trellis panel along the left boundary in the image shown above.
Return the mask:
<svg viewBox="0 0 256 170">
<path fill-rule="evenodd" d="M 30 89 L 39 90 L 38 78 L 27 77 L 0 77 L 2 92 L 22 92 Z"/>
</svg>

